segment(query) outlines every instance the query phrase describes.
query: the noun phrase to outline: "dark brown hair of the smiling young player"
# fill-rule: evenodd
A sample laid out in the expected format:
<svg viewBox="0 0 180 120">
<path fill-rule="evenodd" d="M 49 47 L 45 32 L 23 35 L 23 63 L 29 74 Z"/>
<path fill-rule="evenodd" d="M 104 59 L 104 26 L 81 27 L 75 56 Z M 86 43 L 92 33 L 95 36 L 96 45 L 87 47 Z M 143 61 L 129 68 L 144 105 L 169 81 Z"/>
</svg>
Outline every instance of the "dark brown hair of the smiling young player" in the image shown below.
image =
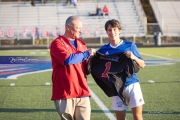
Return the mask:
<svg viewBox="0 0 180 120">
<path fill-rule="evenodd" d="M 112 20 L 108 20 L 106 23 L 105 23 L 105 30 L 107 31 L 107 28 L 108 26 L 111 25 L 111 27 L 117 27 L 119 30 L 121 30 L 121 24 L 115 20 L 115 19 L 112 19 Z"/>
</svg>

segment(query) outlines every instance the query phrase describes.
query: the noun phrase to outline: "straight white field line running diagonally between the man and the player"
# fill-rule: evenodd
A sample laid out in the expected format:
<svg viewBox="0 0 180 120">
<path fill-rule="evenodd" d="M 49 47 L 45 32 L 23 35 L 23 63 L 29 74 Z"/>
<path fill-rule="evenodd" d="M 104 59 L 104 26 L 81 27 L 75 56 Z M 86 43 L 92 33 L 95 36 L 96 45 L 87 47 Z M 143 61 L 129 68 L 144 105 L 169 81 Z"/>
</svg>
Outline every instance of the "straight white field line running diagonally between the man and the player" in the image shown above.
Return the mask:
<svg viewBox="0 0 180 120">
<path fill-rule="evenodd" d="M 89 88 L 92 98 L 96 102 L 96 104 L 103 110 L 104 114 L 110 119 L 110 120 L 116 120 L 114 115 L 109 111 L 109 109 L 103 104 L 103 102 L 96 96 L 96 94 Z"/>
</svg>

